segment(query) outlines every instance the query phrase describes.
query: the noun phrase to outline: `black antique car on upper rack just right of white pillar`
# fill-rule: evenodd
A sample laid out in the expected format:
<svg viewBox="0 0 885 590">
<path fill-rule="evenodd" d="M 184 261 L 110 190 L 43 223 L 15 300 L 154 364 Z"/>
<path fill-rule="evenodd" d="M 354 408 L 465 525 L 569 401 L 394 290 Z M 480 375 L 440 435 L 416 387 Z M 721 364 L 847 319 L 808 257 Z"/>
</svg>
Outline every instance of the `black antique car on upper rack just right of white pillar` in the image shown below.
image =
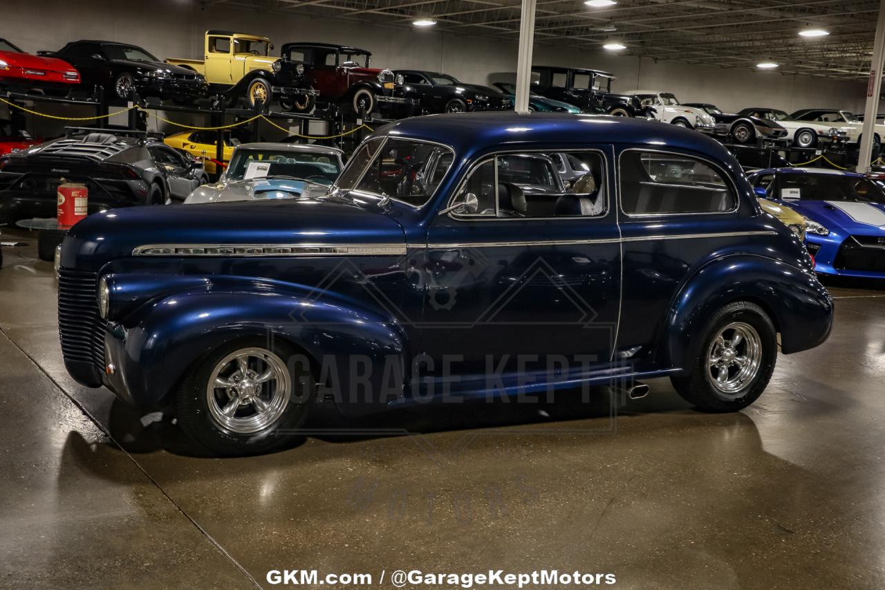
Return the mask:
<svg viewBox="0 0 885 590">
<path fill-rule="evenodd" d="M 575 105 L 585 113 L 621 117 L 649 117 L 651 107 L 639 99 L 612 92 L 615 77 L 608 72 L 580 67 L 532 66 L 532 92 Z"/>
</svg>

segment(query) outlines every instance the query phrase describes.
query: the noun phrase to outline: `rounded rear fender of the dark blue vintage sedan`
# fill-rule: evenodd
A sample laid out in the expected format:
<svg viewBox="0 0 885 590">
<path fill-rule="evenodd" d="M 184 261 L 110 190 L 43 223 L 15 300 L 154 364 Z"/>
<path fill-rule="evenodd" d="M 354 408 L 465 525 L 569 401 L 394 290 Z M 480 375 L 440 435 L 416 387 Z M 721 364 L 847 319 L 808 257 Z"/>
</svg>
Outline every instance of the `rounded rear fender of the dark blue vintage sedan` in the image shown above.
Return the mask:
<svg viewBox="0 0 885 590">
<path fill-rule="evenodd" d="M 734 254 L 698 269 L 676 294 L 658 361 L 689 368 L 700 353 L 704 324 L 733 301 L 750 301 L 766 310 L 781 334 L 783 353 L 820 345 L 832 328 L 833 299 L 816 276 L 781 260 Z"/>
</svg>

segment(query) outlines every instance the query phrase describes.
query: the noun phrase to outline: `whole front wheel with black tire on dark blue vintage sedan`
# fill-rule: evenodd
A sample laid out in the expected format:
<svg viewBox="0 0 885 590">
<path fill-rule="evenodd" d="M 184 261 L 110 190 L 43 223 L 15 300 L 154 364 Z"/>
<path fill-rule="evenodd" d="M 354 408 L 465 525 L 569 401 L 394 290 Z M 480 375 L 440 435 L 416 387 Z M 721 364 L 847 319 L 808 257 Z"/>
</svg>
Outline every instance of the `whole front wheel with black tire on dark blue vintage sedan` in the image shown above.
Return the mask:
<svg viewBox="0 0 885 590">
<path fill-rule="evenodd" d="M 307 418 L 315 387 L 289 346 L 245 338 L 207 355 L 181 384 L 181 429 L 218 455 L 266 453 Z"/>
</svg>

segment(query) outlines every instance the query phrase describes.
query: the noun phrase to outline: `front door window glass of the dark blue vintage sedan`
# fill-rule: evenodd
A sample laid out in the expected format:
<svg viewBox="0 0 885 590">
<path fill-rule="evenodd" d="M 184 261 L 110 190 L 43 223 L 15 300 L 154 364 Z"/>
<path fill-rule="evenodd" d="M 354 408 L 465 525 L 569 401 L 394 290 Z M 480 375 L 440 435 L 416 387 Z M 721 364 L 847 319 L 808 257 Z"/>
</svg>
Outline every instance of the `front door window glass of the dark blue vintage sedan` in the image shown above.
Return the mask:
<svg viewBox="0 0 885 590">
<path fill-rule="evenodd" d="M 597 151 L 500 154 L 483 161 L 453 202 L 466 217 L 594 217 L 605 213 L 604 159 Z"/>
</svg>

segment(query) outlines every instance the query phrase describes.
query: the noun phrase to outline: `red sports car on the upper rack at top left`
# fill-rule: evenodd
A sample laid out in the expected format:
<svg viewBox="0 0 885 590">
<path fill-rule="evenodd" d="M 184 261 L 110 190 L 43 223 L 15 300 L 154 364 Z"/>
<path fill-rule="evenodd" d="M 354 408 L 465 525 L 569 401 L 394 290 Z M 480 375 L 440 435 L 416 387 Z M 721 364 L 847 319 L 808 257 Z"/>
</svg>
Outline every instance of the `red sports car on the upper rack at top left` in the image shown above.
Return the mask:
<svg viewBox="0 0 885 590">
<path fill-rule="evenodd" d="M 66 95 L 79 83 L 80 72 L 66 61 L 31 55 L 0 39 L 0 86 Z"/>
</svg>

